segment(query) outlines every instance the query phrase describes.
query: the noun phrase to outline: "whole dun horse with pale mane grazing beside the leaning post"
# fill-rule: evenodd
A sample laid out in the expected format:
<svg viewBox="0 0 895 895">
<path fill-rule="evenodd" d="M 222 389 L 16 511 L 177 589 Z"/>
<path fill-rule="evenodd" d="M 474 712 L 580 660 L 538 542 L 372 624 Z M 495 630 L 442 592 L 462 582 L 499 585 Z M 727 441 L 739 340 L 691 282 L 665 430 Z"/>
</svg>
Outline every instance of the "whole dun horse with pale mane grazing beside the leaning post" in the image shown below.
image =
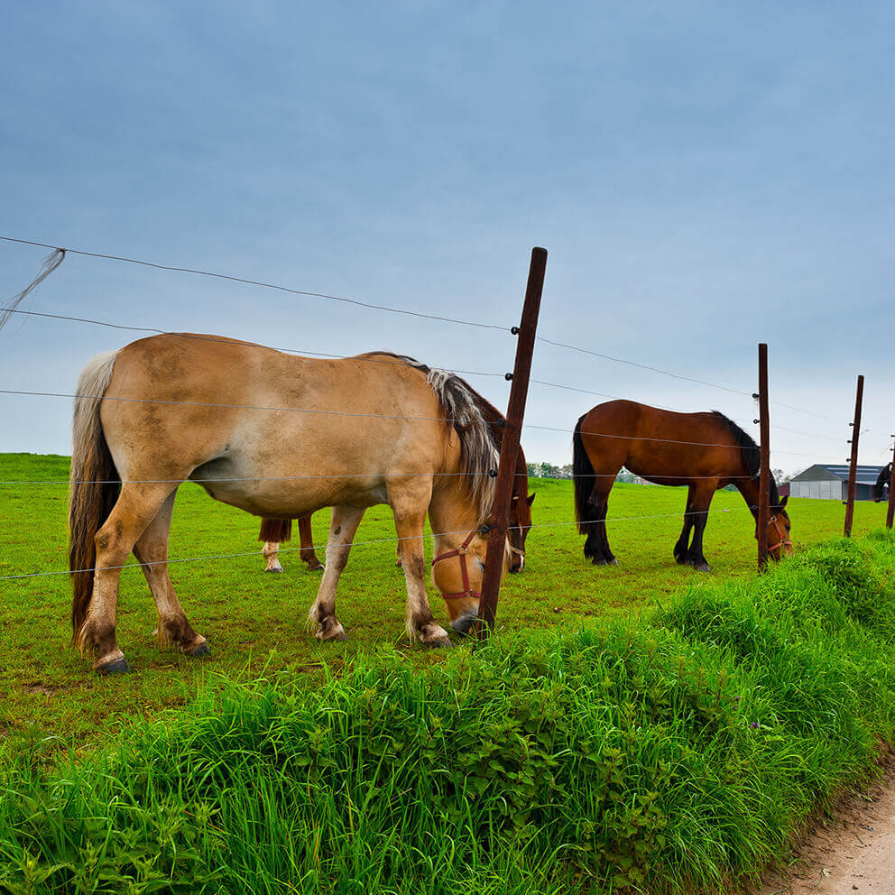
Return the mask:
<svg viewBox="0 0 895 895">
<path fill-rule="evenodd" d="M 294 449 L 273 447 L 282 445 Z M 317 360 L 189 334 L 100 355 L 81 374 L 75 401 L 75 643 L 95 655 L 97 671 L 128 669 L 115 610 L 121 567 L 133 550 L 158 609 L 159 640 L 190 656 L 208 652 L 168 576 L 174 497 L 180 483 L 195 479 L 214 499 L 264 518 L 333 508 L 326 571 L 309 614 L 322 641 L 345 639 L 338 579 L 364 511 L 388 503 L 407 583 L 408 634 L 447 644 L 426 595 L 423 521 L 429 512 L 433 578 L 451 627 L 466 632 L 478 613 L 497 454 L 473 389 L 411 358 Z M 112 484 L 117 479 L 122 484 Z"/>
</svg>

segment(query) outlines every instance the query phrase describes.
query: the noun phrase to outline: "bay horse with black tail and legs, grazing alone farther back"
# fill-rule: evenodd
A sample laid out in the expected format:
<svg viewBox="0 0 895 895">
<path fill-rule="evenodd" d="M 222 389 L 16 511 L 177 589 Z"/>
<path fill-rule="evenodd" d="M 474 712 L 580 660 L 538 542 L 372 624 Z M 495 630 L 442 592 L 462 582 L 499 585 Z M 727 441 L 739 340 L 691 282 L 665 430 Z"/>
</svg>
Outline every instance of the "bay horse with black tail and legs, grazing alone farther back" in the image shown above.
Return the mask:
<svg viewBox="0 0 895 895">
<path fill-rule="evenodd" d="M 733 484 L 757 523 L 760 451 L 723 413 L 676 413 L 607 401 L 578 420 L 572 448 L 578 531 L 587 535 L 585 556 L 595 566 L 617 565 L 606 537 L 606 510 L 622 466 L 655 484 L 687 485 L 684 528 L 674 545 L 678 563 L 709 570 L 702 538 L 719 488 Z M 792 553 L 786 502 L 771 476 L 768 546 L 774 559 Z"/>
</svg>

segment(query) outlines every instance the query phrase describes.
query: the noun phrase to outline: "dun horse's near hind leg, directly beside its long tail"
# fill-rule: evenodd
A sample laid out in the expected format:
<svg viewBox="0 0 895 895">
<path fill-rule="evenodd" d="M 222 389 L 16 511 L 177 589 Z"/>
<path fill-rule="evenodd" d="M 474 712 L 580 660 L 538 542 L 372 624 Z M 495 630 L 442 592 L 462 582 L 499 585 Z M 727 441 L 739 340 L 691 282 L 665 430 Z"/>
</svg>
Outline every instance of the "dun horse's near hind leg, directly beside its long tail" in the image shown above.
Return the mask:
<svg viewBox="0 0 895 895">
<path fill-rule="evenodd" d="M 93 592 L 87 617 L 78 629 L 75 641 L 79 650 L 95 653 L 97 659 L 93 667 L 102 674 L 130 670 L 115 639 L 118 580 L 137 539 L 170 494 L 171 484 L 125 482 L 112 512 L 94 538 L 97 559 Z"/>
</svg>

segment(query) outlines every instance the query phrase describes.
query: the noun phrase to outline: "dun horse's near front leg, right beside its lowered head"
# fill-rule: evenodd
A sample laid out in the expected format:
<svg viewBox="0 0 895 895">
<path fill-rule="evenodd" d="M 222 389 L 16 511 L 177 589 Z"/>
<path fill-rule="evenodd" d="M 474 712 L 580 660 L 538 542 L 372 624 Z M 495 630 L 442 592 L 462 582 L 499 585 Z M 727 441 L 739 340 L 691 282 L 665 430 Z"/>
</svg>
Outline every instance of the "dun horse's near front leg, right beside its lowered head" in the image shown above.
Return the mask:
<svg viewBox="0 0 895 895">
<path fill-rule="evenodd" d="M 403 484 L 403 483 L 402 483 Z M 448 632 L 435 621 L 426 593 L 423 523 L 431 498 L 431 483 L 415 481 L 389 486 L 389 501 L 398 533 L 398 552 L 407 582 L 407 636 L 427 646 L 449 646 Z"/>
</svg>

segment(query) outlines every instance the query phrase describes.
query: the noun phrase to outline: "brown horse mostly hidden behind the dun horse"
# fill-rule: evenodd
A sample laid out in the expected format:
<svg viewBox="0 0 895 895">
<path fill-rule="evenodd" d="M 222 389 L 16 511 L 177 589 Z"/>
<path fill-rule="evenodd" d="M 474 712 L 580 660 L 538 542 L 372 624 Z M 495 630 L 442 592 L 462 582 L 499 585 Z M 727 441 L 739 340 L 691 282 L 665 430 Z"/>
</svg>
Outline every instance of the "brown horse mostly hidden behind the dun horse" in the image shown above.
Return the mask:
<svg viewBox="0 0 895 895">
<path fill-rule="evenodd" d="M 401 355 L 389 356 L 401 358 Z M 423 367 L 421 364 L 418 364 L 418 366 L 420 369 L 425 369 L 427 374 L 429 373 L 428 367 Z M 503 444 L 503 413 L 498 411 L 494 404 L 485 401 L 477 392 L 473 392 L 473 400 L 479 411 L 482 412 L 488 428 L 491 429 L 494 443 L 499 450 Z M 525 463 L 525 455 L 520 447 L 516 458 L 516 475 L 512 484 L 512 503 L 510 504 L 510 515 L 507 521 L 507 535 L 510 539 L 510 551 L 513 554 L 510 560 L 510 571 L 512 573 L 521 572 L 525 567 L 525 540 L 528 537 L 529 529 L 531 529 L 531 504 L 534 503 L 534 494 L 528 493 L 528 487 L 528 466 Z M 279 558 L 280 544 L 290 540 L 291 536 L 291 519 L 263 519 L 261 521 L 261 531 L 258 533 L 258 540 L 263 540 L 264 542 L 261 553 L 267 563 L 264 568 L 265 572 L 281 572 L 283 570 Z M 299 536 L 301 539 L 300 560 L 306 563 L 311 571 L 323 568 L 323 564 L 314 552 L 310 516 L 301 516 L 299 518 Z M 396 565 L 401 565 L 400 548 L 398 549 Z"/>
</svg>

